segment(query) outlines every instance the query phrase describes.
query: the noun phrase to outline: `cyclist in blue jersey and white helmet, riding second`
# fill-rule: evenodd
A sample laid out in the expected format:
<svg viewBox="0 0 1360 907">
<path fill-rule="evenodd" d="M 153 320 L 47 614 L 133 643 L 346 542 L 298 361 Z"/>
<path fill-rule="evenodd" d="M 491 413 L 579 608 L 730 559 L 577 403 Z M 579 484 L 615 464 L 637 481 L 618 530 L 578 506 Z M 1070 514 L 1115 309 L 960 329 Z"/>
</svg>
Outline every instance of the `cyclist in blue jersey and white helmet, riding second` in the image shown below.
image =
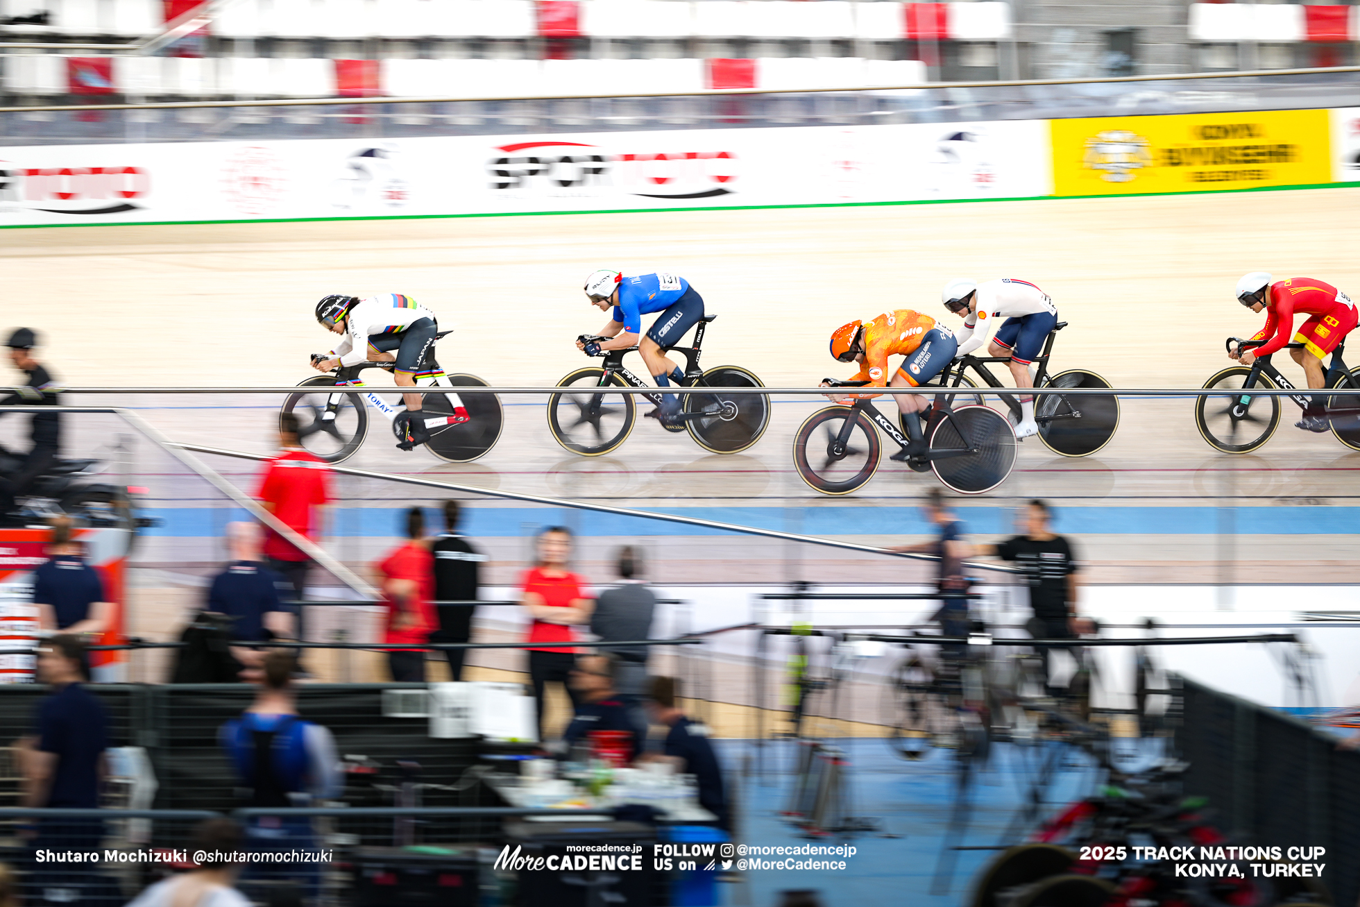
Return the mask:
<svg viewBox="0 0 1360 907">
<path fill-rule="evenodd" d="M 703 298 L 688 280 L 661 272 L 624 277 L 617 271 L 596 271 L 586 277 L 585 291 L 592 305 L 601 310 L 613 309 L 613 315 L 600 330 L 608 340 L 578 340 L 577 349 L 583 349 L 588 356 L 600 356 L 611 349 L 638 347 L 658 388 L 684 381 L 684 373 L 661 349 L 675 345 L 703 318 Z M 642 315 L 653 311 L 660 311 L 661 315 L 651 322 L 643 337 Z M 680 401 L 675 394 L 662 394 L 661 400 L 661 407 L 647 415 L 662 424 L 673 424 L 680 412 Z"/>
</svg>

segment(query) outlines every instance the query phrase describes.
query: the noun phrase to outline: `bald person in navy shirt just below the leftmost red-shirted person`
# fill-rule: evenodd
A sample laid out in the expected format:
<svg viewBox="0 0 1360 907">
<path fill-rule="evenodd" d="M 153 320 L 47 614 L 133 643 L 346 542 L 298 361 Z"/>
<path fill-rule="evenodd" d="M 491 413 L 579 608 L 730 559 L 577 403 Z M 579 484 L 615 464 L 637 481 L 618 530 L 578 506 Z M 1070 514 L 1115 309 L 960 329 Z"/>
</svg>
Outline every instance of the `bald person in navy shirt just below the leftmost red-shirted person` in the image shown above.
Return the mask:
<svg viewBox="0 0 1360 907">
<path fill-rule="evenodd" d="M 231 639 L 291 639 L 292 613 L 279 601 L 279 587 L 287 587 L 287 583 L 261 563 L 260 526 L 253 522 L 228 522 L 227 544 L 231 547 L 231 563 L 212 578 L 205 609 L 234 619 Z M 264 658 L 258 649 L 243 646 L 233 646 L 231 655 L 250 668 L 258 668 Z"/>
</svg>

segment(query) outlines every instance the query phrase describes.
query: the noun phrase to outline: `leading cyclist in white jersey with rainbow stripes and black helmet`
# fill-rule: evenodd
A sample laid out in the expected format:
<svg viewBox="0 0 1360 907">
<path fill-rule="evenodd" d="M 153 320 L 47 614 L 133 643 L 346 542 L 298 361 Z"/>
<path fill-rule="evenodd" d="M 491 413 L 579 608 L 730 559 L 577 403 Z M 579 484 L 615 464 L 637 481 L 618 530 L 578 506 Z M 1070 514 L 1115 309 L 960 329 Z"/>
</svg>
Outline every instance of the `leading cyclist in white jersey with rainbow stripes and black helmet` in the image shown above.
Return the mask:
<svg viewBox="0 0 1360 907">
<path fill-rule="evenodd" d="M 416 378 L 426 375 L 426 359 L 434 345 L 439 322 L 435 314 L 411 296 L 384 292 L 369 299 L 358 296 L 330 295 L 317 303 L 317 321 L 332 333 L 344 339 L 330 351 L 329 356 L 313 356 L 311 366 L 317 371 L 330 371 L 356 366 L 360 362 L 396 363 L 393 378 L 400 388 L 415 388 Z M 430 428 L 420 417 L 423 397 L 419 393 L 404 393 L 405 412 L 397 413 L 393 428 L 400 441 L 397 447 L 412 450 L 416 445 L 430 441 Z M 457 426 L 468 422 L 468 409 L 453 394 L 449 401 L 452 416 L 441 416 L 439 424 Z"/>
</svg>

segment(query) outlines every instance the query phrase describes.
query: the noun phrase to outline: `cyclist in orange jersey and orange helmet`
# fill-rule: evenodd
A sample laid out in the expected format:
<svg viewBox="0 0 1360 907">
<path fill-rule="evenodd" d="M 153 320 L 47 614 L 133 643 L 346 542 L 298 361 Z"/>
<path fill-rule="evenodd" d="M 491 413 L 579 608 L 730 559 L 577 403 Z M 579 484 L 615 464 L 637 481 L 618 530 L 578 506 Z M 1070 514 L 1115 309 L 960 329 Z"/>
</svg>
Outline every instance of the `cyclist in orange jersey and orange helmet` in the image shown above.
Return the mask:
<svg viewBox="0 0 1360 907">
<path fill-rule="evenodd" d="M 906 356 L 892 375 L 894 388 L 919 388 L 948 366 L 959 348 L 953 332 L 936 324 L 930 315 L 910 309 L 885 311 L 869 324 L 851 321 L 831 335 L 831 356 L 836 362 L 858 362 L 860 371 L 850 381 L 864 381 L 869 388 L 888 386 L 888 356 Z M 827 381 L 823 388 L 830 388 Z M 879 394 L 827 394 L 835 403 L 851 404 L 861 397 Z M 894 394 L 902 422 L 907 427 L 907 446 L 889 460 L 902 462 L 926 453 L 921 413 L 930 407 L 925 394 Z"/>
</svg>

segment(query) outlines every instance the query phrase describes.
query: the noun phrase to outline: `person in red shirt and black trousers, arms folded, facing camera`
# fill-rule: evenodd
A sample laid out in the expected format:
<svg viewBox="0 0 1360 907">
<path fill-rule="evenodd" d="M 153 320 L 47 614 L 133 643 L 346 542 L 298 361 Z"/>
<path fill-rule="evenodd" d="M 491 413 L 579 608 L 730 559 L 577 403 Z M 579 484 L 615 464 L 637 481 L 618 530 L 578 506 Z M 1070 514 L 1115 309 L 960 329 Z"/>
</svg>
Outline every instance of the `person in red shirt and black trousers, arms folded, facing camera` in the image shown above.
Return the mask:
<svg viewBox="0 0 1360 907">
<path fill-rule="evenodd" d="M 590 623 L 594 600 L 586 598 L 585 581 L 567 570 L 571 559 L 571 530 L 549 526 L 539 533 L 539 563 L 524 574 L 524 593 L 520 602 L 533 617 L 526 642 L 575 642 L 573 626 Z M 577 691 L 567 679 L 575 664 L 577 650 L 529 649 L 529 680 L 533 683 L 533 702 L 539 711 L 539 740 L 543 740 L 543 691 L 548 681 L 560 683 L 577 706 Z"/>
</svg>

